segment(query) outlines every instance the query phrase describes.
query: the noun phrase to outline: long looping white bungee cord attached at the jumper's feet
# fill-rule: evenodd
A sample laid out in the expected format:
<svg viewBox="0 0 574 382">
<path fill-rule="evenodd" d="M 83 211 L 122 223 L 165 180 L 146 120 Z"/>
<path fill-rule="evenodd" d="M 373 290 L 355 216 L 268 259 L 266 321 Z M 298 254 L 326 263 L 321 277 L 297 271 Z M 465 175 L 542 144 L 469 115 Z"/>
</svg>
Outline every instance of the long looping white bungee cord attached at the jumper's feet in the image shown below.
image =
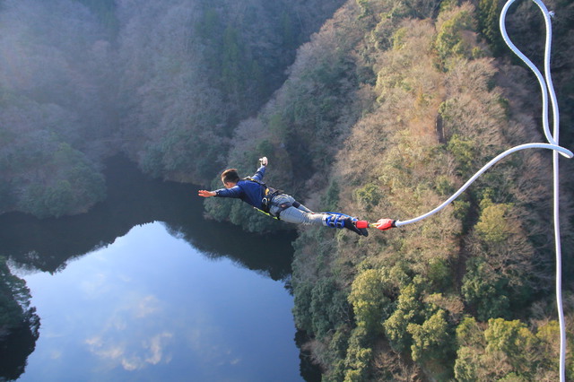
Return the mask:
<svg viewBox="0 0 574 382">
<path fill-rule="evenodd" d="M 509 0 L 500 13 L 500 32 L 504 42 L 509 46 L 510 50 L 515 53 L 520 59 L 532 70 L 535 74 L 536 79 L 540 84 L 540 90 L 542 92 L 543 100 L 543 128 L 544 135 L 548 143 L 526 143 L 517 145 L 506 152 L 502 152 L 496 158 L 492 159 L 486 163 L 482 169 L 479 169 L 472 178 L 468 179 L 463 187 L 460 187 L 458 191 L 450 196 L 443 204 L 440 204 L 437 208 L 429 213 L 424 213 L 421 216 L 413 218 L 407 221 L 394 221 L 394 226 L 401 227 L 407 224 L 411 224 L 416 221 L 422 221 L 428 218 L 434 213 L 438 213 L 452 201 L 454 201 L 460 194 L 462 194 L 466 188 L 468 188 L 474 180 L 479 178 L 484 171 L 490 169 L 498 161 L 505 158 L 507 155 L 526 149 L 548 149 L 552 150 L 552 169 L 553 169 L 553 224 L 554 224 L 554 241 L 555 241 L 555 251 L 556 251 L 556 305 L 558 308 L 558 319 L 560 325 L 560 380 L 563 382 L 565 380 L 565 362 L 566 362 L 566 325 L 564 322 L 564 311 L 562 307 L 562 260 L 561 260 L 561 234 L 560 234 L 560 170 L 559 170 L 559 156 L 571 159 L 574 154 L 570 150 L 565 149 L 559 145 L 559 125 L 560 125 L 560 115 L 558 111 L 558 101 L 556 100 L 556 94 L 554 92 L 554 86 L 552 84 L 552 77 L 550 72 L 550 58 L 551 58 L 551 46 L 552 46 L 552 23 L 551 17 L 553 13 L 549 12 L 544 3 L 540 0 L 532 0 L 540 8 L 544 14 L 544 22 L 546 26 L 546 39 L 544 48 L 544 76 L 540 73 L 538 68 L 526 57 L 509 39 L 509 35 L 506 31 L 506 14 L 509 11 L 510 5 L 512 5 L 515 0 Z M 548 117 L 548 98 L 550 95 L 550 103 L 552 104 L 552 122 L 553 122 L 553 134 L 550 132 L 549 127 L 549 117 Z M 389 220 L 387 220 L 389 221 Z M 386 226 L 390 228 L 390 225 Z"/>
</svg>

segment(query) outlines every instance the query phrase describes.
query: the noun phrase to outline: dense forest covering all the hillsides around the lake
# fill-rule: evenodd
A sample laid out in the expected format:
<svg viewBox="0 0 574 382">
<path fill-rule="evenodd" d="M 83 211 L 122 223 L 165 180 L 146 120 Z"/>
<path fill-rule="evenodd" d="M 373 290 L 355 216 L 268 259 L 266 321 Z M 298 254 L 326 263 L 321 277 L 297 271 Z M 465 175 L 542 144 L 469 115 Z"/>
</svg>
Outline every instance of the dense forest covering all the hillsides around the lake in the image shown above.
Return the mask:
<svg viewBox="0 0 574 382">
<path fill-rule="evenodd" d="M 570 147 L 574 4 L 546 4 Z M 425 213 L 500 152 L 543 140 L 539 89 L 500 39 L 501 5 L 0 1 L 0 213 L 86 211 L 117 152 L 153 177 L 213 187 L 218 171 L 251 175 L 266 155 L 268 182 L 311 209 Z M 508 28 L 540 66 L 535 4 L 514 5 Z M 570 274 L 574 185 L 561 166 Z M 293 315 L 323 379 L 556 380 L 551 169 L 548 152 L 520 152 L 428 220 L 368 238 L 300 230 Z M 288 228 L 236 202 L 208 199 L 206 214 Z M 19 302 L 22 285 L 9 285 Z"/>
</svg>

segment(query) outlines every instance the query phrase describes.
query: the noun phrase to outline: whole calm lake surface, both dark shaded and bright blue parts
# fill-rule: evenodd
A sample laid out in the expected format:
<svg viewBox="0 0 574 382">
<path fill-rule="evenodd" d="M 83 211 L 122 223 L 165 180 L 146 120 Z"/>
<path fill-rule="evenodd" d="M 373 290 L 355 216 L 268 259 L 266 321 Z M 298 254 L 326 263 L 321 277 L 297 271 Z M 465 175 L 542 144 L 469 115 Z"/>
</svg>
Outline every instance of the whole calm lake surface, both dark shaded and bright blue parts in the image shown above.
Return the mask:
<svg viewBox="0 0 574 382">
<path fill-rule="evenodd" d="M 303 380 L 285 287 L 292 234 L 204 221 L 196 187 L 125 161 L 108 177 L 116 186 L 91 213 L 0 217 L 0 255 L 40 317 L 19 380 Z"/>
</svg>

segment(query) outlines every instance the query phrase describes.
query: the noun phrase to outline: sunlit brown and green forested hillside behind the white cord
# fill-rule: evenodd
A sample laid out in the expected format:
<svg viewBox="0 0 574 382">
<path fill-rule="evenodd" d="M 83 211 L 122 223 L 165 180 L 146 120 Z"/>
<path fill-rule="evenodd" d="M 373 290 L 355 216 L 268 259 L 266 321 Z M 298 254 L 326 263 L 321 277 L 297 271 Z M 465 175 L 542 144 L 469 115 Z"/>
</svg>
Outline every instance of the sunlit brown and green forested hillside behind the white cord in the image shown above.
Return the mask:
<svg viewBox="0 0 574 382">
<path fill-rule="evenodd" d="M 497 4 L 348 2 L 299 49 L 274 100 L 239 125 L 230 164 L 247 173 L 269 155 L 269 183 L 318 211 L 369 220 L 430 211 L 498 153 L 543 140 L 538 87 L 492 32 Z M 561 50 L 571 6 L 549 6 Z M 509 29 L 540 63 L 536 15 L 520 5 Z M 572 65 L 563 55 L 553 63 L 568 120 Z M 570 132 L 562 137 L 571 142 Z M 516 154 L 404 229 L 361 239 L 301 230 L 293 313 L 323 378 L 556 380 L 551 167 L 547 152 Z M 562 245 L 571 270 L 569 178 Z M 269 226 L 242 204 L 217 202 L 207 204 L 216 217 Z"/>
</svg>

